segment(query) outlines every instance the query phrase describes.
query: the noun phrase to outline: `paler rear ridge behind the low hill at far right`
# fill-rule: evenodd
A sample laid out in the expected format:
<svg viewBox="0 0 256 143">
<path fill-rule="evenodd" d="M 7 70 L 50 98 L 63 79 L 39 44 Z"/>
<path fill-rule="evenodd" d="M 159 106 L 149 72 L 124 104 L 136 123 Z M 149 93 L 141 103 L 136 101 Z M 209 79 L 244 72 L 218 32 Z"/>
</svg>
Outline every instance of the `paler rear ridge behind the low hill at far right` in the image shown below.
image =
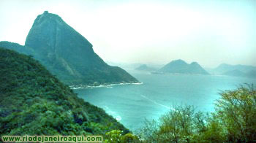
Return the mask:
<svg viewBox="0 0 256 143">
<path fill-rule="evenodd" d="M 246 66 L 246 65 L 230 65 L 227 63 L 222 63 L 219 66 L 217 66 L 217 68 L 212 69 L 211 73 L 212 74 L 223 74 L 227 71 L 234 71 L 234 70 L 238 70 L 238 71 L 242 71 L 244 73 L 249 72 L 249 71 L 253 71 L 256 70 L 256 66 Z"/>
</svg>

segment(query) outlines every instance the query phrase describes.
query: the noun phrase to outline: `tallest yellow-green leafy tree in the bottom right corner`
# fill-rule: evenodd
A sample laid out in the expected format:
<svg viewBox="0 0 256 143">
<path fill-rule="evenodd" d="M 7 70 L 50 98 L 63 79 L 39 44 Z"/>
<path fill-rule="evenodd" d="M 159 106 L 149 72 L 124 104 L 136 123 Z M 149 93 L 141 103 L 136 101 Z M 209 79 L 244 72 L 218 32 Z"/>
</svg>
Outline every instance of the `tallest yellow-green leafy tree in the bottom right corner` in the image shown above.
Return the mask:
<svg viewBox="0 0 256 143">
<path fill-rule="evenodd" d="M 216 110 L 230 142 L 256 142 L 256 90 L 253 85 L 220 93 Z"/>
</svg>

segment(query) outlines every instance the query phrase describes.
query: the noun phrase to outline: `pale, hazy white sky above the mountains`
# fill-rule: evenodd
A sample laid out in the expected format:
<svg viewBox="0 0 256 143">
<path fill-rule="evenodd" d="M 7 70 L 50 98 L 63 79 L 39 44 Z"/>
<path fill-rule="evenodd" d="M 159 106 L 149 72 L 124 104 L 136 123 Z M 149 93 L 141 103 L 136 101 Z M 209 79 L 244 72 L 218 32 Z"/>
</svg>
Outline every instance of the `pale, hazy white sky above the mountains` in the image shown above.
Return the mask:
<svg viewBox="0 0 256 143">
<path fill-rule="evenodd" d="M 104 61 L 256 66 L 255 0 L 0 0 L 0 41 L 24 45 L 45 10 L 86 37 Z"/>
</svg>

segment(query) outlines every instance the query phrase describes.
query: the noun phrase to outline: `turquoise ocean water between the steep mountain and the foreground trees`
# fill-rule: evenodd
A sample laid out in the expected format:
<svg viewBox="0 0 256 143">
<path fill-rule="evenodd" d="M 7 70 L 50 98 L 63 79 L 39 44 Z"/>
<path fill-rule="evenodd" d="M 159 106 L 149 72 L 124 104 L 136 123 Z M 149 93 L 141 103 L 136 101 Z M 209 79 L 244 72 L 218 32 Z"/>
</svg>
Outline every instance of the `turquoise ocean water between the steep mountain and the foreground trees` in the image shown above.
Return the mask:
<svg viewBox="0 0 256 143">
<path fill-rule="evenodd" d="M 143 84 L 113 85 L 75 90 L 89 101 L 123 123 L 131 131 L 145 120 L 158 119 L 179 105 L 193 105 L 204 112 L 214 111 L 214 102 L 222 90 L 232 90 L 255 79 L 214 75 L 131 73 Z"/>
</svg>

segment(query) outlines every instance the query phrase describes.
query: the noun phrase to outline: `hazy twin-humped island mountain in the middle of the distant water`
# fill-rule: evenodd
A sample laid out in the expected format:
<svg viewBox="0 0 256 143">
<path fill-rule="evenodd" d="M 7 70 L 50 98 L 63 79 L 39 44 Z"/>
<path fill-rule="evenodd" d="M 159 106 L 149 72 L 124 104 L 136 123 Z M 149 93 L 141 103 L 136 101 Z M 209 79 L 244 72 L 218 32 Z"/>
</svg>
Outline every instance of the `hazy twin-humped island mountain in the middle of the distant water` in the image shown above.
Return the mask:
<svg viewBox="0 0 256 143">
<path fill-rule="evenodd" d="M 208 74 L 197 62 L 190 64 L 182 60 L 171 61 L 164 67 L 159 69 L 163 73 L 178 73 L 178 74 Z"/>
</svg>

